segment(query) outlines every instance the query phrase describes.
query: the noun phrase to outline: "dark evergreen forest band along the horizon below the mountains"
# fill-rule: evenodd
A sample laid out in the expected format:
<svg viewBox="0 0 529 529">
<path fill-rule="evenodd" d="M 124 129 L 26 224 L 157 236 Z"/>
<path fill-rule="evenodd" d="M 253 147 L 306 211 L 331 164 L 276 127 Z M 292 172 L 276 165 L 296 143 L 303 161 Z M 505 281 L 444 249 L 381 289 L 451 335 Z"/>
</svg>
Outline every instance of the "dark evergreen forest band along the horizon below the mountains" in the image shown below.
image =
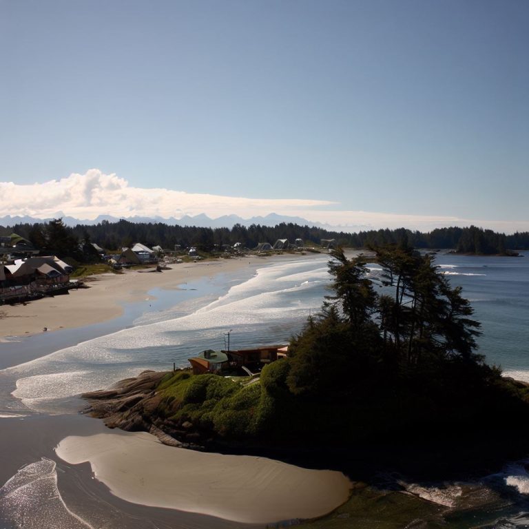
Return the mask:
<svg viewBox="0 0 529 529">
<path fill-rule="evenodd" d="M 16 233 L 30 240 L 37 248 L 53 247 L 50 244 L 52 241 L 48 241 L 47 245 L 43 244 L 49 235 L 49 224 L 46 222 L 0 226 L 0 235 Z M 108 251 L 131 247 L 135 242 L 142 242 L 149 247 L 159 245 L 167 250 L 174 249 L 175 245 L 183 249 L 194 246 L 203 251 L 211 251 L 222 245 L 233 246 L 240 242 L 243 247 L 253 249 L 260 242 L 273 245 L 278 239 L 288 239 L 289 242 L 302 239 L 306 246 L 319 246 L 322 239 L 335 239 L 339 246 L 355 248 L 398 244 L 406 240 L 408 245 L 415 248 L 454 249 L 461 253 L 479 255 L 506 255 L 509 251 L 529 249 L 529 231 L 506 235 L 475 226 L 438 228 L 428 233 L 404 228 L 346 233 L 284 222 L 273 227 L 245 227 L 236 224 L 230 229 L 167 225 L 163 222 L 136 223 L 122 219 L 118 222 L 103 220 L 97 225 L 64 226 L 64 229 L 72 238 L 83 242 L 96 242 Z"/>
</svg>

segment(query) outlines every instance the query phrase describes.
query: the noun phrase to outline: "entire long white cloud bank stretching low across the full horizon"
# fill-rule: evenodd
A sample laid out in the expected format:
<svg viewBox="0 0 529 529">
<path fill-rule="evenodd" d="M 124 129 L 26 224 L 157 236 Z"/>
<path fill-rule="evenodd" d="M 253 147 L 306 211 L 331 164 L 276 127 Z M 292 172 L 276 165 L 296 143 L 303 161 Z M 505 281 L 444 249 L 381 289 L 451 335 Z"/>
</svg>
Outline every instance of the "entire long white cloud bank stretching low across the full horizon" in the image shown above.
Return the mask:
<svg viewBox="0 0 529 529">
<path fill-rule="evenodd" d="M 72 216 L 93 220 L 98 215 L 129 218 L 133 216 L 181 218 L 205 213 L 210 218 L 236 214 L 242 218 L 276 213 L 299 216 L 310 222 L 329 225 L 332 229 L 360 231 L 366 229 L 407 227 L 429 231 L 436 227 L 475 224 L 497 231 L 527 231 L 528 222 L 471 220 L 448 216 L 395 215 L 373 211 L 338 210 L 328 200 L 297 198 L 243 198 L 209 194 L 192 194 L 161 188 L 131 187 L 125 178 L 90 169 L 73 173 L 60 180 L 18 185 L 0 182 L 0 216 L 51 218 Z M 335 208 L 335 209 L 333 209 Z"/>
</svg>

